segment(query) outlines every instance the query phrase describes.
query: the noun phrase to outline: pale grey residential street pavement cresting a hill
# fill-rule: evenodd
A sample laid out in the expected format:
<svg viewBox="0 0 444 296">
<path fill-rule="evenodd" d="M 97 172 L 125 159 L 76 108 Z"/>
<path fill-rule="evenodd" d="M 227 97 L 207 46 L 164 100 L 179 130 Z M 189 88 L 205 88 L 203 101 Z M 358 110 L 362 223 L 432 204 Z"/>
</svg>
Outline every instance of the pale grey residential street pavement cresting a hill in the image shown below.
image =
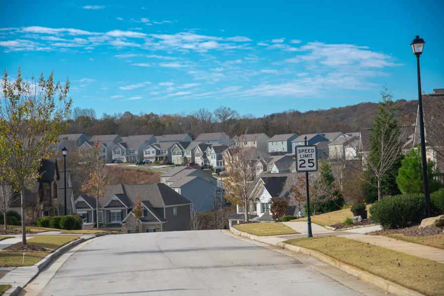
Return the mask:
<svg viewBox="0 0 444 296">
<path fill-rule="evenodd" d="M 384 295 L 314 259 L 220 230 L 109 235 L 76 248 L 20 295 Z"/>
</svg>

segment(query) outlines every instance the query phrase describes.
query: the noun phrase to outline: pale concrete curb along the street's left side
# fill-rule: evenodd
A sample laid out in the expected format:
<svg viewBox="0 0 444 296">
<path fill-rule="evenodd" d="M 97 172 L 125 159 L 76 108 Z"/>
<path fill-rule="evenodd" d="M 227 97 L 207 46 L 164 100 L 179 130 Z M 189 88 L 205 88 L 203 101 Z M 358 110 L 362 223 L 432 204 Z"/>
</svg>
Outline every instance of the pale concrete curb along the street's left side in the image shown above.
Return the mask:
<svg viewBox="0 0 444 296">
<path fill-rule="evenodd" d="M 66 251 L 68 251 L 69 249 L 73 248 L 74 246 L 86 241 L 86 240 L 90 240 L 92 238 L 96 238 L 96 237 L 100 237 L 100 236 L 104 236 L 104 235 L 110 235 L 110 234 L 120 234 L 120 233 L 110 233 L 110 232 L 101 232 L 101 233 L 96 233 L 96 234 L 92 234 L 91 236 L 87 237 L 87 238 L 79 238 L 76 239 L 60 248 L 58 248 L 57 250 L 55 250 L 54 252 L 52 252 L 51 254 L 48 254 L 45 258 L 43 258 L 40 262 L 32 265 L 32 266 L 22 266 L 22 267 L 17 267 L 14 270 L 20 271 L 19 268 L 22 268 L 23 270 L 26 269 L 30 269 L 31 268 L 35 268 L 35 270 L 31 270 L 28 276 L 24 276 L 21 278 L 20 283 L 9 283 L 10 285 L 12 285 L 11 288 L 9 288 L 4 294 L 3 296 L 16 296 L 20 293 L 20 291 L 22 291 L 23 287 L 25 287 L 29 282 L 31 282 L 37 275 L 38 273 L 44 268 L 46 267 L 49 263 L 51 263 L 54 259 L 58 258 L 60 255 L 64 254 Z M 6 274 L 7 276 L 7 274 Z M 14 284 L 16 284 L 17 286 L 14 286 Z"/>
</svg>

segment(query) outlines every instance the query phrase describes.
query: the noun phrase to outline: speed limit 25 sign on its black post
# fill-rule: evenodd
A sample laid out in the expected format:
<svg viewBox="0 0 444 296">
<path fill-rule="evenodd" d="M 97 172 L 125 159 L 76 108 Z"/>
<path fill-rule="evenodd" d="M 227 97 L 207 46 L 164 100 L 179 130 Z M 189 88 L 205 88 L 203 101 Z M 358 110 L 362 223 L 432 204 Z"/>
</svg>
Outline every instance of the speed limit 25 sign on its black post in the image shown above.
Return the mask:
<svg viewBox="0 0 444 296">
<path fill-rule="evenodd" d="M 307 137 L 304 136 L 304 146 L 296 146 L 296 171 L 305 172 L 305 187 L 307 189 L 307 225 L 308 235 L 312 237 L 311 233 L 311 218 L 310 218 L 310 190 L 308 183 L 308 172 L 318 170 L 318 151 L 317 146 L 308 146 Z"/>
</svg>

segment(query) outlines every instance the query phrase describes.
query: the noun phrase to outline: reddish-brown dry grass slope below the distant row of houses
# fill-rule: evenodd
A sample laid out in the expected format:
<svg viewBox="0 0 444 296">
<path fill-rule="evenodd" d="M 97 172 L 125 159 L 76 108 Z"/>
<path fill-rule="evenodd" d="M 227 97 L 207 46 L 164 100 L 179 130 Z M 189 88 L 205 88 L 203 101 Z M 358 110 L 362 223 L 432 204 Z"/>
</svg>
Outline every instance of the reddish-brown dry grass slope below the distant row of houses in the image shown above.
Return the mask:
<svg viewBox="0 0 444 296">
<path fill-rule="evenodd" d="M 148 169 L 130 169 L 111 165 L 111 183 L 148 184 L 160 183 L 161 173 Z"/>
</svg>

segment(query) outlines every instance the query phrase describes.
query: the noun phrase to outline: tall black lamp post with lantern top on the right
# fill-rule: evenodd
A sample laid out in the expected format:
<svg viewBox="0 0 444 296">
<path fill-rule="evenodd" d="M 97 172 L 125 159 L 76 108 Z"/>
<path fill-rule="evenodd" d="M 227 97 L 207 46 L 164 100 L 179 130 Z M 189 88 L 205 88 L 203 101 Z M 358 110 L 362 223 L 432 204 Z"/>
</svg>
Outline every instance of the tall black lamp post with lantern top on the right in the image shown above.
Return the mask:
<svg viewBox="0 0 444 296">
<path fill-rule="evenodd" d="M 430 193 L 429 193 L 429 177 L 427 175 L 427 158 L 425 150 L 425 136 L 424 136 L 424 118 L 422 114 L 422 94 L 421 94 L 421 72 L 419 70 L 419 56 L 422 54 L 424 48 L 424 39 L 416 35 L 411 40 L 410 46 L 413 54 L 416 56 L 416 66 L 418 69 L 418 113 L 419 113 L 419 132 L 421 140 L 421 159 L 422 159 L 422 183 L 424 185 L 424 197 L 426 207 L 426 217 L 430 217 Z"/>
</svg>

